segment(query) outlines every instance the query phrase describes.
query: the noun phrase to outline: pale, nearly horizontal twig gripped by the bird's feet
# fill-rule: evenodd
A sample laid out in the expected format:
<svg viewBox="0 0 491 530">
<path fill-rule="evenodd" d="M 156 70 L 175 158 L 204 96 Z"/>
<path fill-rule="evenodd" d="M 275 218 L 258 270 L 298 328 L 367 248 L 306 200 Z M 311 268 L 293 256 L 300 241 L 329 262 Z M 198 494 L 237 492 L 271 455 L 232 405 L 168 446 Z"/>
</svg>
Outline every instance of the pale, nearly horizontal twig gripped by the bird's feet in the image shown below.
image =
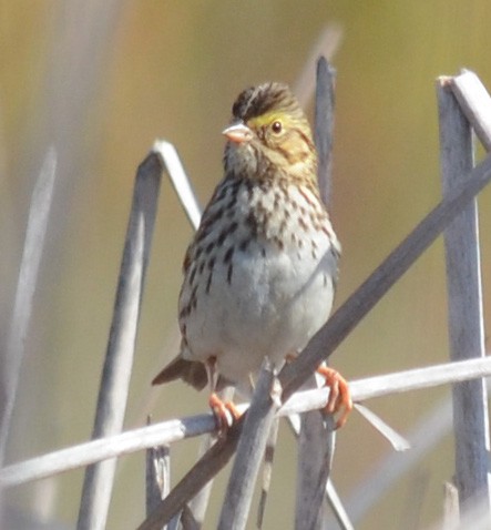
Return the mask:
<svg viewBox="0 0 491 530">
<path fill-rule="evenodd" d="M 481 377 L 491 377 L 490 357 L 359 379 L 350 383 L 350 389 L 356 401 L 364 401 L 391 394 Z M 278 416 L 289 416 L 318 409 L 326 404 L 328 395 L 328 388 L 297 393 L 283 405 L 278 410 Z M 238 405 L 237 407 L 241 411 L 246 410 L 245 405 Z M 7 466 L 0 470 L 0 486 L 19 486 L 108 458 L 147 449 L 160 444 L 173 444 L 184 438 L 212 432 L 215 428 L 215 418 L 211 412 L 141 427 L 121 435 L 92 440 Z M 234 434 L 233 430 L 231 431 Z M 226 444 L 221 440 L 217 444 L 217 451 L 219 452 L 219 448 L 226 446 Z"/>
</svg>

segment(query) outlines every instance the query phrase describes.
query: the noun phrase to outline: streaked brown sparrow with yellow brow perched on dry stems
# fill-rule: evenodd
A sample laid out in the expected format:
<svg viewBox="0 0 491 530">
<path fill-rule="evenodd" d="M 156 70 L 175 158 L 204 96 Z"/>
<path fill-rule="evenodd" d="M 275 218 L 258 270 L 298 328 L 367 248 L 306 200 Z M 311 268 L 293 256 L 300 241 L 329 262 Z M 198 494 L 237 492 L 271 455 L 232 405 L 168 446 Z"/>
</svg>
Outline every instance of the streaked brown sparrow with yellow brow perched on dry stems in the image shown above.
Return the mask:
<svg viewBox="0 0 491 530">
<path fill-rule="evenodd" d="M 181 350 L 152 381 L 208 385 L 218 416 L 216 390 L 250 395 L 265 357 L 279 369 L 327 322 L 341 253 L 320 198 L 311 129 L 289 86 L 247 88 L 232 114 L 224 176 L 184 257 Z M 348 384 L 333 368 L 324 375 L 327 410 L 340 411 L 341 426 L 352 407 Z"/>
</svg>

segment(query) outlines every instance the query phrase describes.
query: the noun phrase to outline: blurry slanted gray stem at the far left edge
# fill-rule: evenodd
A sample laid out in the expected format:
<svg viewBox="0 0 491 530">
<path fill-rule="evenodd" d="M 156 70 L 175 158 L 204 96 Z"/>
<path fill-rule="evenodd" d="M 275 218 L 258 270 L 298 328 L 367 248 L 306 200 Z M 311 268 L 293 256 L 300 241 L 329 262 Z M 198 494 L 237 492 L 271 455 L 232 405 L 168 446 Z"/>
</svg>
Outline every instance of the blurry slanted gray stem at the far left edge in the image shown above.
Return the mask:
<svg viewBox="0 0 491 530">
<path fill-rule="evenodd" d="M 3 465 L 13 406 L 24 357 L 24 343 L 31 320 L 32 297 L 38 282 L 39 266 L 44 248 L 44 236 L 53 198 L 57 174 L 57 153 L 51 147 L 35 182 L 29 210 L 25 241 L 19 271 L 12 319 L 6 358 L 1 369 L 0 466 Z"/>
</svg>

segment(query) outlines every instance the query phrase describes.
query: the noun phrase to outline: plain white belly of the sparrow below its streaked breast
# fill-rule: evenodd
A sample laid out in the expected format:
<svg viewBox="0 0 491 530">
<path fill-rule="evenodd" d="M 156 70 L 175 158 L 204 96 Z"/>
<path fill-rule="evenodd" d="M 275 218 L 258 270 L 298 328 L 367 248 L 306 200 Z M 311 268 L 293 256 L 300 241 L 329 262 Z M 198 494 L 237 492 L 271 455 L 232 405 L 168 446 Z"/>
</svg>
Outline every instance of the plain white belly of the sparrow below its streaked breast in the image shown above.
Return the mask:
<svg viewBox="0 0 491 530">
<path fill-rule="evenodd" d="M 333 305 L 337 264 L 324 233 L 316 259 L 308 245 L 254 251 L 234 254 L 229 283 L 228 266 L 215 265 L 208 292 L 198 289 L 185 319 L 185 357 L 215 356 L 219 374 L 234 383 L 257 371 L 265 356 L 280 366 L 286 355 L 300 351 Z"/>
</svg>

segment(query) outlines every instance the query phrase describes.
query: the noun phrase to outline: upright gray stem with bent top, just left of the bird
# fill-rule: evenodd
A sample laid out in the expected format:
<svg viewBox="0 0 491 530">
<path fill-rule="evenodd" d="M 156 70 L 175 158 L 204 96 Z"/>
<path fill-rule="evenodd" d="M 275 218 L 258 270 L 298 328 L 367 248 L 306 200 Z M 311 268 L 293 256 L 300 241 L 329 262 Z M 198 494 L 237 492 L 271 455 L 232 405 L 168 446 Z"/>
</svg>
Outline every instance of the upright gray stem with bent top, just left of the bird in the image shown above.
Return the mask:
<svg viewBox="0 0 491 530">
<path fill-rule="evenodd" d="M 136 174 L 92 438 L 115 435 L 123 427 L 161 175 L 161 159 L 152 152 Z M 78 530 L 105 528 L 115 466 L 112 459 L 86 469 Z"/>
</svg>

